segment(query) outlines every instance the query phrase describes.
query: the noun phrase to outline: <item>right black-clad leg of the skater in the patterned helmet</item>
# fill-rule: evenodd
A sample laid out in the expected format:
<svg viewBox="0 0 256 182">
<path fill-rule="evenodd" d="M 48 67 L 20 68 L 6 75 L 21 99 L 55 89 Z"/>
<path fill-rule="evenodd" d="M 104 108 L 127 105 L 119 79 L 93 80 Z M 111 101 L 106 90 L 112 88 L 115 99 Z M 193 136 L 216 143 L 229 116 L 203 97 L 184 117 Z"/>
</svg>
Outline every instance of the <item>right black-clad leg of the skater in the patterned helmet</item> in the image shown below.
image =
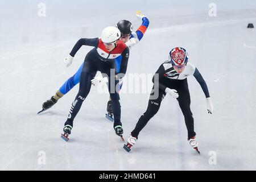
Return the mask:
<svg viewBox="0 0 256 182">
<path fill-rule="evenodd" d="M 179 102 L 180 109 L 185 118 L 185 125 L 188 130 L 188 139 L 191 137 L 195 137 L 196 133 L 194 131 L 194 119 L 193 114 L 190 109 L 190 94 L 188 90 L 188 82 L 185 79 L 181 84 L 177 87 L 177 93 L 179 93 L 179 97 L 177 101 Z"/>
</svg>

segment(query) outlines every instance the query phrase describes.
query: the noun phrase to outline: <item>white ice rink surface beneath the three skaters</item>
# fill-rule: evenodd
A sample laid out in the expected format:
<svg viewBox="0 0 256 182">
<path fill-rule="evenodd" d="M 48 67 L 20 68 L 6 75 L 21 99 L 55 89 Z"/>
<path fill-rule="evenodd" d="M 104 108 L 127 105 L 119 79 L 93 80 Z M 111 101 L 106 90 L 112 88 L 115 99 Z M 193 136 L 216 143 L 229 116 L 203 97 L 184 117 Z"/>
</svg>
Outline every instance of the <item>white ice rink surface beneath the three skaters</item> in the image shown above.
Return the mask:
<svg viewBox="0 0 256 182">
<path fill-rule="evenodd" d="M 46 16 L 38 16 L 38 4 Z M 256 2 L 214 1 L 13 1 L 0 2 L 0 170 L 255 170 Z M 105 118 L 109 94 L 92 87 L 74 121 L 70 140 L 60 138 L 79 86 L 45 114 L 42 103 L 72 76 L 91 47 L 63 59 L 80 38 L 100 36 L 106 26 L 150 20 L 131 49 L 127 76 L 155 73 L 171 48 L 187 49 L 208 84 L 214 104 L 207 113 L 203 90 L 188 78 L 201 155 L 189 146 L 177 101 L 167 96 L 130 153 Z M 123 88 L 127 89 L 127 88 Z M 150 92 L 150 90 L 148 90 Z M 146 111 L 149 93 L 121 94 L 124 137 Z M 40 163 L 42 154 L 46 164 Z M 209 163 L 214 154 L 216 163 Z M 211 158 L 212 159 L 212 158 Z M 212 160 L 210 160 L 212 161 Z"/>
</svg>

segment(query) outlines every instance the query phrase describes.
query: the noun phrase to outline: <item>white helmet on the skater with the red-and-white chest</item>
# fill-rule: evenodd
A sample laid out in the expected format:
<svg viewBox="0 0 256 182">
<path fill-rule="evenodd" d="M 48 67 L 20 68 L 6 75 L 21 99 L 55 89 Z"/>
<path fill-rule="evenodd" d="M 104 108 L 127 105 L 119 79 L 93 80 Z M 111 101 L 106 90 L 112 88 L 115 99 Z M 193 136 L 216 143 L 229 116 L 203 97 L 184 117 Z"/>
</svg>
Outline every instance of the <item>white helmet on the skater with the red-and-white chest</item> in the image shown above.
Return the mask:
<svg viewBox="0 0 256 182">
<path fill-rule="evenodd" d="M 106 27 L 101 33 L 101 40 L 104 43 L 112 43 L 121 37 L 121 32 L 117 27 Z"/>
</svg>

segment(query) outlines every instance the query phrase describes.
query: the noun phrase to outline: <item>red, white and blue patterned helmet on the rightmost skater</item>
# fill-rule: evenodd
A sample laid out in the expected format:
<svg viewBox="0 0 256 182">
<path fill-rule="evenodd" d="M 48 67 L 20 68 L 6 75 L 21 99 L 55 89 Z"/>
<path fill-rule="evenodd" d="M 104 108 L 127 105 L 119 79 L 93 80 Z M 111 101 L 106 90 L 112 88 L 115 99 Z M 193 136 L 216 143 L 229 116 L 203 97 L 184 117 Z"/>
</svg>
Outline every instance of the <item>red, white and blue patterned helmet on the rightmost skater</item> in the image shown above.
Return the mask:
<svg viewBox="0 0 256 182">
<path fill-rule="evenodd" d="M 184 65 L 188 62 L 188 53 L 182 47 L 175 47 L 169 53 L 169 60 L 172 65 Z"/>
</svg>

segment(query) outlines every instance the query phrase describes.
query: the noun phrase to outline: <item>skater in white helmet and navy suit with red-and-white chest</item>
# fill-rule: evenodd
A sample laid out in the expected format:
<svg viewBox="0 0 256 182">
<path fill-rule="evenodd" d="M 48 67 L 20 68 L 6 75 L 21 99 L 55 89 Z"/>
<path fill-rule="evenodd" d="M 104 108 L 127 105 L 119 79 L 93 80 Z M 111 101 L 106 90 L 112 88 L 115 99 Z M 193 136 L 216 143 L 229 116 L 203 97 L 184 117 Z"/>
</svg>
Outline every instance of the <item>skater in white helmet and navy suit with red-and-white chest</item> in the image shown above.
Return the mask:
<svg viewBox="0 0 256 182">
<path fill-rule="evenodd" d="M 121 32 L 117 27 L 106 27 L 102 31 L 101 38 L 80 39 L 73 47 L 71 53 L 69 53 L 70 57 L 74 57 L 82 46 L 94 47 L 85 56 L 80 76 L 79 92 L 72 103 L 67 121 L 64 124 L 64 134 L 61 135 L 61 138 L 64 140 L 67 141 L 68 135 L 71 134 L 73 120 L 79 112 L 82 102 L 90 92 L 92 86 L 91 80 L 95 77 L 97 71 L 104 74 L 106 80 L 108 80 L 110 98 L 113 102 L 114 130 L 115 134 L 122 137 L 121 106 L 119 102 L 119 90 L 117 88 L 119 88 L 119 79 L 126 73 L 129 48 L 125 43 L 119 40 L 120 37 Z M 122 55 L 120 66 L 121 74 L 117 74 L 115 70 L 115 57 L 120 55 Z"/>
</svg>

